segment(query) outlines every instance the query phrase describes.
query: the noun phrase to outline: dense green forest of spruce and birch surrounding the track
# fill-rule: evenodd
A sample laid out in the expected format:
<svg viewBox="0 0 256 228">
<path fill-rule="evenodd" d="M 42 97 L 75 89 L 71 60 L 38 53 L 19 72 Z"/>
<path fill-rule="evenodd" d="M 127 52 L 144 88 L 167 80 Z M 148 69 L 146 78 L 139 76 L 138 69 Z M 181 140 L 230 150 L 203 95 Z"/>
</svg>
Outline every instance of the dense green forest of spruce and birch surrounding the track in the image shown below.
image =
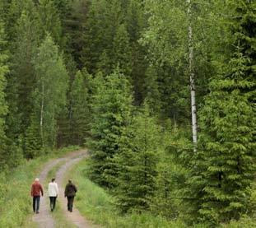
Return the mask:
<svg viewBox="0 0 256 228">
<path fill-rule="evenodd" d="M 0 205 L 77 145 L 120 215 L 256 227 L 255 101 L 255 0 L 0 0 Z"/>
</svg>

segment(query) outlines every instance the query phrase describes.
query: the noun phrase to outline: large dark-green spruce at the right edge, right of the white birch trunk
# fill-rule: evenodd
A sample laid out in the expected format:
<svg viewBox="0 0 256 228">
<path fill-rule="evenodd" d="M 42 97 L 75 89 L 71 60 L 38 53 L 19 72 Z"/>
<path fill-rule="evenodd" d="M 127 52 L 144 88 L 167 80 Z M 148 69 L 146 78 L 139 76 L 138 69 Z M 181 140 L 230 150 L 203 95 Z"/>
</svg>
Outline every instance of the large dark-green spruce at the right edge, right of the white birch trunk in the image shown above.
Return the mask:
<svg viewBox="0 0 256 228">
<path fill-rule="evenodd" d="M 219 62 L 220 74 L 212 79 L 200 112 L 202 133 L 189 179 L 190 193 L 197 198 L 194 212 L 214 224 L 248 212 L 255 174 L 256 5 L 229 3 L 227 63 Z"/>
</svg>

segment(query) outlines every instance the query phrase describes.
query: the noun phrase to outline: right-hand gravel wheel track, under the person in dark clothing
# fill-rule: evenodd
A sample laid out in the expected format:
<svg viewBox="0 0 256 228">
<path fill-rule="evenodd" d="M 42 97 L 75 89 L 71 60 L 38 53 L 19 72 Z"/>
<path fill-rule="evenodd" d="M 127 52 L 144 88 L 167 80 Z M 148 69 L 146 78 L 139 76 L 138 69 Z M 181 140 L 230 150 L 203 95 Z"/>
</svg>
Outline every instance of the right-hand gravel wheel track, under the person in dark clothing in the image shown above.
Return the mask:
<svg viewBox="0 0 256 228">
<path fill-rule="evenodd" d="M 78 161 L 81 161 L 85 156 L 87 156 L 86 152 L 81 154 L 79 157 L 73 158 L 72 160 L 67 161 L 61 168 L 58 170 L 56 174 L 56 179 L 58 179 L 59 185 L 59 197 L 58 200 L 62 204 L 64 216 L 66 216 L 68 221 L 72 221 L 74 225 L 82 228 L 90 228 L 92 227 L 91 223 L 86 220 L 85 217 L 81 216 L 80 212 L 76 208 L 76 198 L 74 201 L 74 207 L 72 212 L 67 212 L 67 198 L 64 198 L 64 188 L 63 186 L 66 184 L 65 181 L 65 173 L 71 169 L 72 165 L 75 165 Z"/>
</svg>

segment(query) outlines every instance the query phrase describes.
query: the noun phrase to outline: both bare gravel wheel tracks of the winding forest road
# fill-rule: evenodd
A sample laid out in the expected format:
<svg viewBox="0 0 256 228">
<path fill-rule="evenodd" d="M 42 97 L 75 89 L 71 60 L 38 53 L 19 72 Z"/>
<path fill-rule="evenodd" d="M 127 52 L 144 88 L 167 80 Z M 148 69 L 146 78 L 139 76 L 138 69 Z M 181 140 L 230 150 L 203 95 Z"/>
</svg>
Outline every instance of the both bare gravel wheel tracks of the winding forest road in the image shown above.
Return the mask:
<svg viewBox="0 0 256 228">
<path fill-rule="evenodd" d="M 59 193 L 58 193 L 58 201 L 57 203 L 60 204 L 63 217 L 70 222 L 75 227 L 83 227 L 83 228 L 91 228 L 95 227 L 91 224 L 90 221 L 87 221 L 84 216 L 81 216 L 80 212 L 76 208 L 76 198 L 74 201 L 74 208 L 72 212 L 67 212 L 67 199 L 64 198 L 64 186 L 66 184 L 65 175 L 68 173 L 68 170 L 72 168 L 73 165 L 76 165 L 77 162 L 81 161 L 83 158 L 87 156 L 86 150 L 82 151 L 73 151 L 68 153 L 67 156 L 54 159 L 49 161 L 46 165 L 44 165 L 43 170 L 41 170 L 39 174 L 40 183 L 44 184 L 44 197 L 40 198 L 40 213 L 35 214 L 32 217 L 32 221 L 35 222 L 37 227 L 40 228 L 52 228 L 52 227 L 59 227 L 58 221 L 52 215 L 54 212 L 50 212 L 49 210 L 49 198 L 47 193 L 47 184 L 48 179 L 47 175 L 49 174 L 50 170 L 53 170 L 54 167 L 58 167 L 56 172 L 56 182 L 58 183 Z M 60 165 L 60 166 L 57 166 Z M 78 184 L 79 185 L 79 184 Z M 79 186 L 78 186 L 79 190 Z"/>
</svg>

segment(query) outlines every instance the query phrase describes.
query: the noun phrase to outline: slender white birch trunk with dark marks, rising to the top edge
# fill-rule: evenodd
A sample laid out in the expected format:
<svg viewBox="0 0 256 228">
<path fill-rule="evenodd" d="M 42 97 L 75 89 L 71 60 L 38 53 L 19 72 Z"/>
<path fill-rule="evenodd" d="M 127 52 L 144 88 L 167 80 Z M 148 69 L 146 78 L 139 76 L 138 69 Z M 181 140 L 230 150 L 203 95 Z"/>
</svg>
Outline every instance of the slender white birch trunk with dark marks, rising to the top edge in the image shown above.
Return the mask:
<svg viewBox="0 0 256 228">
<path fill-rule="evenodd" d="M 193 29 L 191 19 L 191 0 L 188 3 L 188 18 L 189 18 L 189 81 L 191 94 L 191 114 L 192 114 L 192 138 L 194 144 L 194 151 L 196 151 L 196 144 L 198 142 L 198 123 L 197 123 L 197 105 L 196 105 L 196 86 L 195 74 L 193 71 Z"/>
</svg>

